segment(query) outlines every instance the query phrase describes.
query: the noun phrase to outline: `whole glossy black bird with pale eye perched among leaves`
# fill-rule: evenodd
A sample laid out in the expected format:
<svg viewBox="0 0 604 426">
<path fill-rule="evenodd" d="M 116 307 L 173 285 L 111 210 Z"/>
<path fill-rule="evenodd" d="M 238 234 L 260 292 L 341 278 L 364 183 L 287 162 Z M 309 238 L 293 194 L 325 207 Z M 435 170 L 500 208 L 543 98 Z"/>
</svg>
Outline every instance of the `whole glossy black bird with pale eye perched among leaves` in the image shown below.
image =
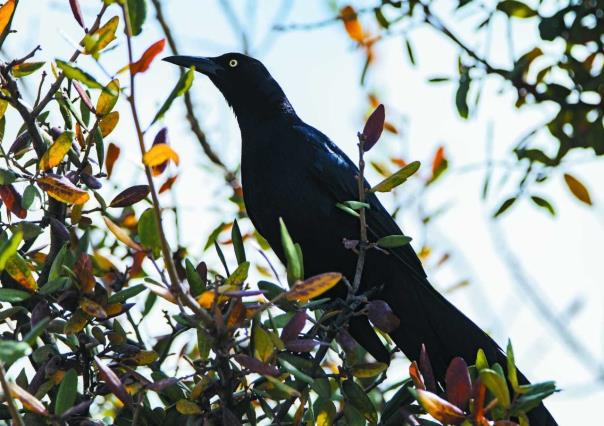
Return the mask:
<svg viewBox="0 0 604 426">
<path fill-rule="evenodd" d="M 214 58 L 171 56 L 164 60 L 183 67 L 195 66 L 232 107 L 241 130 L 246 210 L 280 260 L 285 262 L 279 232 L 281 217 L 302 247 L 307 276 L 337 271 L 352 281 L 357 255 L 343 246 L 342 239 L 359 239 L 359 223 L 336 203 L 358 199 L 356 165 L 327 136 L 298 117 L 260 61 L 239 53 Z M 373 193 L 367 194 L 366 201 L 371 206 L 367 222 L 373 238 L 402 234 Z M 390 333 L 392 339 L 411 360 L 418 359 L 425 344 L 440 382 L 452 358 L 461 356 L 473 364 L 479 348 L 489 362 L 506 365 L 499 346 L 430 285 L 410 245 L 390 254 L 367 252 L 361 289 L 374 286 L 381 287 L 375 298 L 388 302 L 400 318 L 400 326 Z M 340 287 L 334 287 L 330 296 L 342 296 Z M 355 317 L 349 331 L 374 358 L 390 361 L 365 317 Z M 543 405 L 529 417 L 532 426 L 556 424 Z"/>
</svg>

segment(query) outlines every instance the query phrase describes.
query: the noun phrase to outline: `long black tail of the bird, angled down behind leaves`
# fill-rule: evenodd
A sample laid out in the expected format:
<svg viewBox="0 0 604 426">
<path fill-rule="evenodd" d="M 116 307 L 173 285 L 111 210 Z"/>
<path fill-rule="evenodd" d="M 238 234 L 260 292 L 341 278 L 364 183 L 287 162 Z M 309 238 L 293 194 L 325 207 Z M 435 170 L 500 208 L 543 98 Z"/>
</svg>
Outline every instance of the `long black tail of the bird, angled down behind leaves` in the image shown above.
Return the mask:
<svg viewBox="0 0 604 426">
<path fill-rule="evenodd" d="M 402 287 L 386 286 L 381 295 L 401 320 L 390 336 L 409 359 L 418 360 L 421 345 L 425 344 L 435 378 L 441 383 L 454 357 L 460 356 L 471 365 L 478 349 L 485 352 L 489 363 L 497 362 L 506 369 L 507 358 L 493 339 L 426 280 L 411 280 L 414 282 Z M 529 383 L 520 372 L 518 379 Z M 531 410 L 528 417 L 531 426 L 557 425 L 543 404 Z"/>
</svg>

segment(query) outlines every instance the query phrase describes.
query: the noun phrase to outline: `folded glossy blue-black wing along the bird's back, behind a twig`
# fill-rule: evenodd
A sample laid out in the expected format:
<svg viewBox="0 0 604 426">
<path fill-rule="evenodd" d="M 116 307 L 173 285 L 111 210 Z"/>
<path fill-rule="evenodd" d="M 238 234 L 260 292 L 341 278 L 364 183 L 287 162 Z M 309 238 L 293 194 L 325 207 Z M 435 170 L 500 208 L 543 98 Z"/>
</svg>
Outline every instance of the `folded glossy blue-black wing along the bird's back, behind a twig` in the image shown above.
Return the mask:
<svg viewBox="0 0 604 426">
<path fill-rule="evenodd" d="M 321 183 L 321 188 L 331 195 L 334 205 L 344 201 L 358 200 L 356 176 L 359 170 L 357 166 L 323 133 L 306 125 L 296 127 L 305 136 L 311 147 L 310 172 Z M 365 181 L 365 187 L 370 188 L 367 181 Z M 367 210 L 367 225 L 373 238 L 377 240 L 388 235 L 403 234 L 375 194 L 367 193 L 365 201 L 370 205 Z M 400 261 L 405 270 L 417 275 L 417 278 L 425 278 L 426 273 L 422 264 L 409 244 L 391 249 L 390 252 Z"/>
</svg>

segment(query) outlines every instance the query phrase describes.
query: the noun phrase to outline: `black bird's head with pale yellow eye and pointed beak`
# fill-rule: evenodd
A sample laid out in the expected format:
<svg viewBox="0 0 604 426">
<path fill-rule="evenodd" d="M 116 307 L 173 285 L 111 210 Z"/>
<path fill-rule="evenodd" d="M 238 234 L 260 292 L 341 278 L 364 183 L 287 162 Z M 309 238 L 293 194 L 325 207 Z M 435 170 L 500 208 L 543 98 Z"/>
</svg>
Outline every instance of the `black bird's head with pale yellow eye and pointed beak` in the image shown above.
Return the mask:
<svg viewBox="0 0 604 426">
<path fill-rule="evenodd" d="M 169 56 L 164 61 L 187 68 L 194 66 L 195 71 L 208 76 L 239 120 L 293 113 L 279 84 L 262 62 L 250 56 L 241 53 L 213 58 Z"/>
</svg>

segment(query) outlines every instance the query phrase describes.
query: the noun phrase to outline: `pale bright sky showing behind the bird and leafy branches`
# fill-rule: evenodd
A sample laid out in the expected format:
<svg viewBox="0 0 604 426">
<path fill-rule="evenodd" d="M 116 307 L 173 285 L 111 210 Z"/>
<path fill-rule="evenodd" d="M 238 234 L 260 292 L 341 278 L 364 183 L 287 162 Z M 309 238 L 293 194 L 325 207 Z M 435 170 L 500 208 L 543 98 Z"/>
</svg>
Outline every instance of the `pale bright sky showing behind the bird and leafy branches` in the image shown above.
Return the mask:
<svg viewBox="0 0 604 426">
<path fill-rule="evenodd" d="M 98 3 L 81 1 L 88 23 L 94 19 Z M 219 3 L 218 0 L 164 2 L 166 18 L 172 24 L 181 53 L 214 56 L 241 50 L 241 39 Z M 363 55 L 346 37 L 341 24 L 312 31 L 275 33 L 270 27 L 280 1 L 252 2 L 252 7 L 246 6 L 245 1 L 233 3 L 240 6 L 235 10 L 240 22 L 246 28 L 253 28 L 249 37 L 252 52 L 255 47 L 264 46 L 258 50 L 259 59 L 281 84 L 300 117 L 327 134 L 351 158 L 356 158 L 355 135 L 367 112 L 366 92 L 359 87 Z M 373 4 L 368 1 L 355 4 L 359 3 Z M 43 51 L 37 57 L 67 59 L 81 38 L 81 30 L 67 2 L 44 0 L 36 4 L 39 8 L 20 5 L 16 27 L 27 30 L 17 34 L 14 41 L 5 46 L 6 50 L 21 56 L 41 43 Z M 333 16 L 323 0 L 294 1 L 293 4 L 284 22 L 319 22 Z M 469 45 L 483 49 L 484 38 L 473 30 L 475 20 L 467 13 L 453 15 L 451 5 L 451 2 L 436 2 L 435 10 Z M 108 16 L 112 14 L 117 14 L 117 10 Z M 163 37 L 153 20 L 151 6 L 149 15 L 143 34 L 134 40 L 134 48 L 139 53 Z M 364 21 L 369 28 L 372 25 L 375 28 L 373 19 Z M 534 25 L 514 22 L 512 28 L 516 54 L 532 47 L 536 37 Z M 493 62 L 501 66 L 509 66 L 505 31 L 504 23 L 496 22 L 488 50 Z M 450 294 L 450 300 L 501 345 L 511 338 L 517 362 L 529 378 L 557 381 L 562 392 L 549 398 L 547 406 L 559 423 L 587 421 L 588 410 L 604 398 L 604 379 L 597 382 L 597 373 L 568 349 L 551 321 L 537 313 L 520 283 L 530 283 L 540 301 L 551 307 L 556 319 L 572 331 L 580 344 L 596 360 L 604 360 L 601 285 L 604 197 L 596 186 L 604 179 L 602 160 L 591 159 L 588 152 L 575 155 L 554 178 L 537 188 L 540 194 L 554 201 L 556 217 L 522 201 L 493 222 L 494 209 L 511 194 L 516 181 L 495 186 L 491 197 L 486 201 L 481 199 L 484 168 L 480 164 L 485 159 L 489 132 L 493 135 L 493 158 L 501 160 L 495 175 L 500 178 L 514 161 L 510 147 L 535 124 L 551 117 L 553 110 L 548 107 L 516 110 L 509 87 L 489 79 L 476 113 L 470 120 L 461 120 L 455 110 L 455 84 L 427 82 L 433 76 L 456 75 L 457 49 L 421 26 L 408 36 L 415 47 L 415 67 L 409 63 L 402 37 L 389 37 L 377 45 L 377 62 L 367 85 L 386 104 L 387 119 L 399 126 L 401 134 L 384 137 L 369 159 L 380 160 L 386 154 L 397 154 L 410 161 L 418 159 L 429 164 L 436 148 L 444 144 L 451 170 L 424 195 L 423 207 L 428 210 L 449 206 L 427 235 L 420 232 L 416 205 L 409 206 L 408 211 L 403 209 L 399 224 L 406 234 L 417 235 L 416 241 L 433 243 L 442 251 L 454 253 L 450 266 L 430 277 L 437 288 L 468 279 L 470 285 Z M 263 43 L 264 40 L 268 40 L 268 44 Z M 554 53 L 557 46 L 548 48 Z M 113 73 L 125 62 L 124 46 L 118 45 L 103 63 Z M 89 59 L 84 58 L 82 64 L 102 81 L 107 80 Z M 150 122 L 177 79 L 175 67 L 164 63 L 154 64 L 138 78 L 138 106 L 143 122 Z M 240 138 L 231 111 L 202 75 L 196 76 L 191 93 L 209 141 L 234 168 L 240 155 Z M 220 172 L 204 158 L 190 134 L 180 102 L 177 104 L 161 125 L 168 127 L 171 144 L 182 159 L 175 187 L 175 199 L 182 206 L 179 218 L 182 243 L 189 248 L 193 259 L 215 263 L 216 257 L 211 251 L 202 252 L 203 245 L 209 232 L 220 221 L 232 220 L 235 211 L 221 201 L 228 195 L 228 189 Z M 122 104 L 118 108 L 127 114 L 124 107 Z M 112 178 L 119 186 L 144 183 L 138 146 L 128 118 L 122 117 L 109 138 L 123 150 Z M 159 128 L 149 130 L 147 142 Z M 539 138 L 546 146 L 551 142 L 546 134 Z M 572 197 L 564 187 L 563 172 L 570 172 L 587 183 L 594 199 L 593 208 Z M 369 179 L 376 183 L 379 177 L 370 174 Z M 411 183 L 409 188 L 413 191 L 417 186 Z M 111 194 L 113 190 L 107 188 L 106 191 Z M 403 199 L 408 195 L 405 191 L 399 191 Z M 387 206 L 395 204 L 389 195 L 382 200 Z M 170 206 L 174 200 L 170 195 L 162 195 L 161 202 Z M 170 215 L 166 214 L 166 218 L 170 220 Z M 175 234 L 171 235 L 174 241 Z M 507 249 L 501 247 L 502 238 L 507 242 Z M 253 245 L 248 247 L 248 252 L 251 249 Z M 517 262 L 513 267 L 505 261 L 510 255 Z M 261 262 L 259 255 L 252 260 Z M 580 304 L 581 309 L 570 319 L 562 314 L 576 304 Z"/>
</svg>

